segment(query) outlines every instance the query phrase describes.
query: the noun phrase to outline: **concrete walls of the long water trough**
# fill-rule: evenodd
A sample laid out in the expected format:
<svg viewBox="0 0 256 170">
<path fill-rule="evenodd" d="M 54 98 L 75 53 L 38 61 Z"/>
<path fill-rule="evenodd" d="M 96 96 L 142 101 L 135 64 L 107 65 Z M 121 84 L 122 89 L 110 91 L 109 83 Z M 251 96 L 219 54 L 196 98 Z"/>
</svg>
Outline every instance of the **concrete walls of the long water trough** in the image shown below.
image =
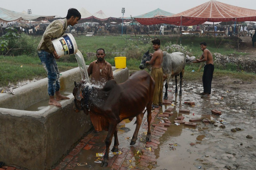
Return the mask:
<svg viewBox="0 0 256 170">
<path fill-rule="evenodd" d="M 87 66 L 88 67 L 88 66 Z M 128 78 L 128 69 L 115 69 L 117 83 Z M 62 72 L 63 89 L 79 82 L 79 68 Z M 58 161 L 84 133 L 91 129 L 89 116 L 73 112 L 74 97 L 40 111 L 24 111 L 30 105 L 47 99 L 47 78 L 15 89 L 15 95 L 0 94 L 0 160 L 7 165 L 45 170 Z"/>
</svg>

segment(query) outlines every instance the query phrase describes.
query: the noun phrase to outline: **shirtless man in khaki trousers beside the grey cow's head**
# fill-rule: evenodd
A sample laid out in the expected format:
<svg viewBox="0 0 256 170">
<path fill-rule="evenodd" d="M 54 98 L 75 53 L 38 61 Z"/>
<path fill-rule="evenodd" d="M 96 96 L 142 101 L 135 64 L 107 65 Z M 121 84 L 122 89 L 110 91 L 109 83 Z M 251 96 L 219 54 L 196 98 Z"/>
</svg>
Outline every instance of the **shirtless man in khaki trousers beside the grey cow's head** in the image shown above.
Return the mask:
<svg viewBox="0 0 256 170">
<path fill-rule="evenodd" d="M 153 95 L 152 108 L 158 108 L 159 106 L 163 105 L 163 52 L 160 49 L 161 41 L 159 39 L 152 40 L 152 43 L 155 52 L 153 54 L 150 53 L 152 58 L 150 59 L 150 61 L 146 61 L 146 64 L 152 65 L 151 76 L 155 80 L 155 90 Z"/>
</svg>

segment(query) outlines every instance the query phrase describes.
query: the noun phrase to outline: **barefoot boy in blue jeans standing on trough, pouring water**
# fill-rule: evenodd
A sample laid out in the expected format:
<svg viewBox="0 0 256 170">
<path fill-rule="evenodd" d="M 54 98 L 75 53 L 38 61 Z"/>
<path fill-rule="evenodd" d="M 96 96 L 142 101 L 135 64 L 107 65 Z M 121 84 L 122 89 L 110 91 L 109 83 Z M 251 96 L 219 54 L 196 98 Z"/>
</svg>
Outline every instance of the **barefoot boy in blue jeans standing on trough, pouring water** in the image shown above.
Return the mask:
<svg viewBox="0 0 256 170">
<path fill-rule="evenodd" d="M 43 37 L 37 47 L 38 56 L 42 62 L 44 69 L 47 72 L 48 78 L 48 94 L 50 96 L 49 105 L 55 105 L 61 107 L 59 100 L 69 99 L 69 97 L 60 94 L 60 84 L 59 84 L 59 69 L 56 60 L 60 58 L 56 53 L 52 39 L 57 39 L 61 37 L 67 26 L 74 26 L 77 24 L 78 20 L 81 19 L 80 12 L 75 8 L 70 8 L 67 12 L 65 19 L 58 19 L 53 21 L 46 28 L 43 33 Z M 54 94 L 56 98 L 54 99 Z"/>
</svg>

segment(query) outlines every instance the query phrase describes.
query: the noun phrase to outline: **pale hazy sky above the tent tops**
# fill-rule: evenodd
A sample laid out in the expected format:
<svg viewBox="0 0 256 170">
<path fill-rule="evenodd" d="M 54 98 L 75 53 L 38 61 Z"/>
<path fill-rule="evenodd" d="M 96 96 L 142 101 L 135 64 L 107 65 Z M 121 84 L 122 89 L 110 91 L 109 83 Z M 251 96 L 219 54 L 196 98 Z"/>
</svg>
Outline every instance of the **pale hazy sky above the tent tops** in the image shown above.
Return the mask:
<svg viewBox="0 0 256 170">
<path fill-rule="evenodd" d="M 218 1 L 243 8 L 256 9 L 256 1 Z M 67 10 L 69 8 L 77 8 L 79 10 L 82 7 L 91 14 L 102 10 L 107 17 L 122 17 L 121 10 L 122 7 L 124 7 L 124 17 L 130 17 L 130 15 L 141 15 L 146 12 L 153 11 L 157 8 L 177 14 L 179 12 L 198 6 L 202 3 L 208 2 L 208 0 L 0 0 L 0 2 L 1 8 L 6 8 L 16 12 L 22 12 L 23 10 L 27 12 L 28 9 L 31 9 L 32 14 L 34 15 L 57 15 L 61 17 L 66 17 Z"/>
</svg>

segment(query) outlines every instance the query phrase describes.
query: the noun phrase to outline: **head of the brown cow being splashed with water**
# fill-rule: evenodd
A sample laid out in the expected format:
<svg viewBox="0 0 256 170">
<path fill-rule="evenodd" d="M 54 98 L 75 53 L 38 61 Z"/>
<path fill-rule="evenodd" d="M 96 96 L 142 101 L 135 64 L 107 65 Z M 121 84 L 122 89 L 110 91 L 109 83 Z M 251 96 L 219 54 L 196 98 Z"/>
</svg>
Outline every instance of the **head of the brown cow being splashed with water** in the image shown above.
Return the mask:
<svg viewBox="0 0 256 170">
<path fill-rule="evenodd" d="M 88 114 L 88 99 L 85 99 L 87 97 L 83 97 L 83 96 L 88 96 L 88 95 L 83 95 L 83 93 L 85 93 L 84 91 L 86 91 L 86 88 L 88 88 L 88 86 L 85 86 L 85 81 L 81 81 L 80 83 L 74 82 L 75 87 L 73 89 L 73 95 L 75 97 L 74 99 L 74 111 L 75 112 L 79 112 L 79 111 L 84 111 L 85 114 Z M 89 91 L 87 89 L 87 91 Z M 89 98 L 89 96 L 88 96 Z"/>
</svg>

